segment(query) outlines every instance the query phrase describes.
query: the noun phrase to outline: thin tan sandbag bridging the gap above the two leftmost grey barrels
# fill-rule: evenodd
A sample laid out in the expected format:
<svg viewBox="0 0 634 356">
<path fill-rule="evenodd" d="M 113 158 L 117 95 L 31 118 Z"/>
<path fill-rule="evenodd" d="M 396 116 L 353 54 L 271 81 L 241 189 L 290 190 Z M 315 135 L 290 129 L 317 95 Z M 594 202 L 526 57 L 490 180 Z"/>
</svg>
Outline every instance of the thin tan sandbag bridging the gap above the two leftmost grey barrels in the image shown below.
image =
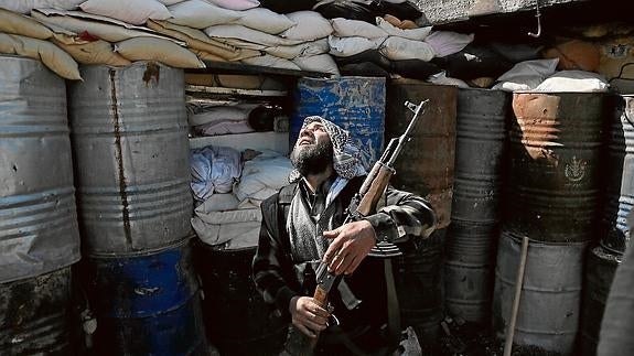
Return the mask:
<svg viewBox="0 0 634 356">
<path fill-rule="evenodd" d="M 115 53 L 109 42 L 97 40 L 83 44 L 65 44 L 52 40 L 60 48 L 66 51 L 75 61 L 83 64 L 104 64 L 111 66 L 126 66 L 132 62 Z"/>
</svg>

